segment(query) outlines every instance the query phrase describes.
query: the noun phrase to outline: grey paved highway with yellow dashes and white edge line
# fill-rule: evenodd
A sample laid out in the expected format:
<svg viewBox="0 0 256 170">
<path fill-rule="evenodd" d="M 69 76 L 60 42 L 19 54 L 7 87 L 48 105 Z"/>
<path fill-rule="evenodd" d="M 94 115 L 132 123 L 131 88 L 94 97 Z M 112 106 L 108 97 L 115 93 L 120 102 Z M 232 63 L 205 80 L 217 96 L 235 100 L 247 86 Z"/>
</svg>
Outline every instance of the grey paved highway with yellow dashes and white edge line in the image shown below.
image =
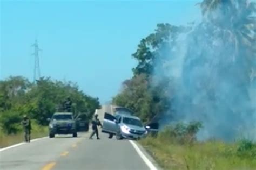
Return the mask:
<svg viewBox="0 0 256 170">
<path fill-rule="evenodd" d="M 110 106 L 98 110 L 98 114 L 111 112 Z M 18 144 L 0 150 L 0 169 L 156 169 L 152 158 L 134 141 L 108 139 L 100 134 L 100 140 L 88 139 L 90 133 L 79 133 L 78 138 L 57 136 L 31 143 Z M 153 162 L 153 163 L 152 163 Z M 159 168 L 157 168 L 159 169 Z"/>
</svg>

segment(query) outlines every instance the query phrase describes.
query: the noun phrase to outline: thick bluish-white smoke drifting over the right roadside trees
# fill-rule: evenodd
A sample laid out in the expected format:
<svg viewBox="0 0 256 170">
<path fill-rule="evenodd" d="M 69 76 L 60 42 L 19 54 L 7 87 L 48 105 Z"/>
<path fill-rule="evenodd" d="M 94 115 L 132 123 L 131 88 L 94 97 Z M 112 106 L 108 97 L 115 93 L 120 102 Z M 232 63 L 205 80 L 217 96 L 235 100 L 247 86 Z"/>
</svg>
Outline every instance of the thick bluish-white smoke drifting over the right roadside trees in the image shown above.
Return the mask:
<svg viewBox="0 0 256 170">
<path fill-rule="evenodd" d="M 223 16 L 219 10 L 213 14 Z M 161 123 L 201 121 L 199 140 L 256 140 L 256 54 L 248 52 L 256 47 L 255 32 L 254 47 L 246 47 L 235 34 L 242 20 L 234 32 L 226 27 L 227 20 L 218 21 L 194 26 L 168 49 L 165 63 L 157 62 L 154 83 L 170 80 L 166 86 L 171 108 Z M 166 48 L 163 51 L 166 58 Z"/>
</svg>

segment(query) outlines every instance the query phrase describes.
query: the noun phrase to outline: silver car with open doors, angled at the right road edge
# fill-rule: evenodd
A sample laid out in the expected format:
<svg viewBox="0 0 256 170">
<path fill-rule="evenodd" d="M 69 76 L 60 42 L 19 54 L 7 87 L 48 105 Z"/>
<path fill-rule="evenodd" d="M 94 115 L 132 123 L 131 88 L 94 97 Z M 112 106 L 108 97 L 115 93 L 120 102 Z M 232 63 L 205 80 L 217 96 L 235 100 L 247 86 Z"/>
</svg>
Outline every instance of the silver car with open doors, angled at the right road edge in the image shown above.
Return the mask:
<svg viewBox="0 0 256 170">
<path fill-rule="evenodd" d="M 111 115 L 105 113 L 103 122 L 103 133 L 109 133 L 109 138 L 116 135 L 118 140 L 123 138 L 140 139 L 147 135 L 147 130 L 140 118 L 129 114 Z"/>
</svg>

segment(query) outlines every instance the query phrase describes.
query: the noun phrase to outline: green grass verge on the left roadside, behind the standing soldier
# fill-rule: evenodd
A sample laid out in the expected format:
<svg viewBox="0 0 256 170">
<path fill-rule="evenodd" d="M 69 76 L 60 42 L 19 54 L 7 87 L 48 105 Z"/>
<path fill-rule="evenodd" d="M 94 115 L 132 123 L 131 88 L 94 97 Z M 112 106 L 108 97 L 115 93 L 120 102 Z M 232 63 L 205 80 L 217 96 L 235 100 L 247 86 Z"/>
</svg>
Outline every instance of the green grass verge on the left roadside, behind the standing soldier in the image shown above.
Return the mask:
<svg viewBox="0 0 256 170">
<path fill-rule="evenodd" d="M 32 127 L 31 139 L 48 136 L 48 127 L 36 125 Z M 0 131 L 0 148 L 21 143 L 24 141 L 24 134 L 20 131 L 17 134 L 4 134 Z"/>
</svg>

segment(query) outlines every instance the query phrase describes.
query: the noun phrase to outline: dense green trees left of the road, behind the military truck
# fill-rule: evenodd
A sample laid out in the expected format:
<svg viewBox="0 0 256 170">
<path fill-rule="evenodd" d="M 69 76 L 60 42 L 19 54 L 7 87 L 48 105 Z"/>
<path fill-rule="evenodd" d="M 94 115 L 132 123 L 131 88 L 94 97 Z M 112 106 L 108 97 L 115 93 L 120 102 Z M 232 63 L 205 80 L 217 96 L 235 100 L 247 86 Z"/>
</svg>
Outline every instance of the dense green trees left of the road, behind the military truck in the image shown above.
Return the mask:
<svg viewBox="0 0 256 170">
<path fill-rule="evenodd" d="M 46 119 L 59 111 L 58 107 L 67 97 L 73 102 L 75 116 L 80 112 L 91 116 L 100 107 L 98 98 L 84 94 L 72 82 L 42 77 L 36 83 L 30 83 L 21 76 L 9 77 L 0 81 L 0 126 L 8 134 L 17 133 L 24 114 L 35 119 L 35 125 L 47 125 Z"/>
</svg>

